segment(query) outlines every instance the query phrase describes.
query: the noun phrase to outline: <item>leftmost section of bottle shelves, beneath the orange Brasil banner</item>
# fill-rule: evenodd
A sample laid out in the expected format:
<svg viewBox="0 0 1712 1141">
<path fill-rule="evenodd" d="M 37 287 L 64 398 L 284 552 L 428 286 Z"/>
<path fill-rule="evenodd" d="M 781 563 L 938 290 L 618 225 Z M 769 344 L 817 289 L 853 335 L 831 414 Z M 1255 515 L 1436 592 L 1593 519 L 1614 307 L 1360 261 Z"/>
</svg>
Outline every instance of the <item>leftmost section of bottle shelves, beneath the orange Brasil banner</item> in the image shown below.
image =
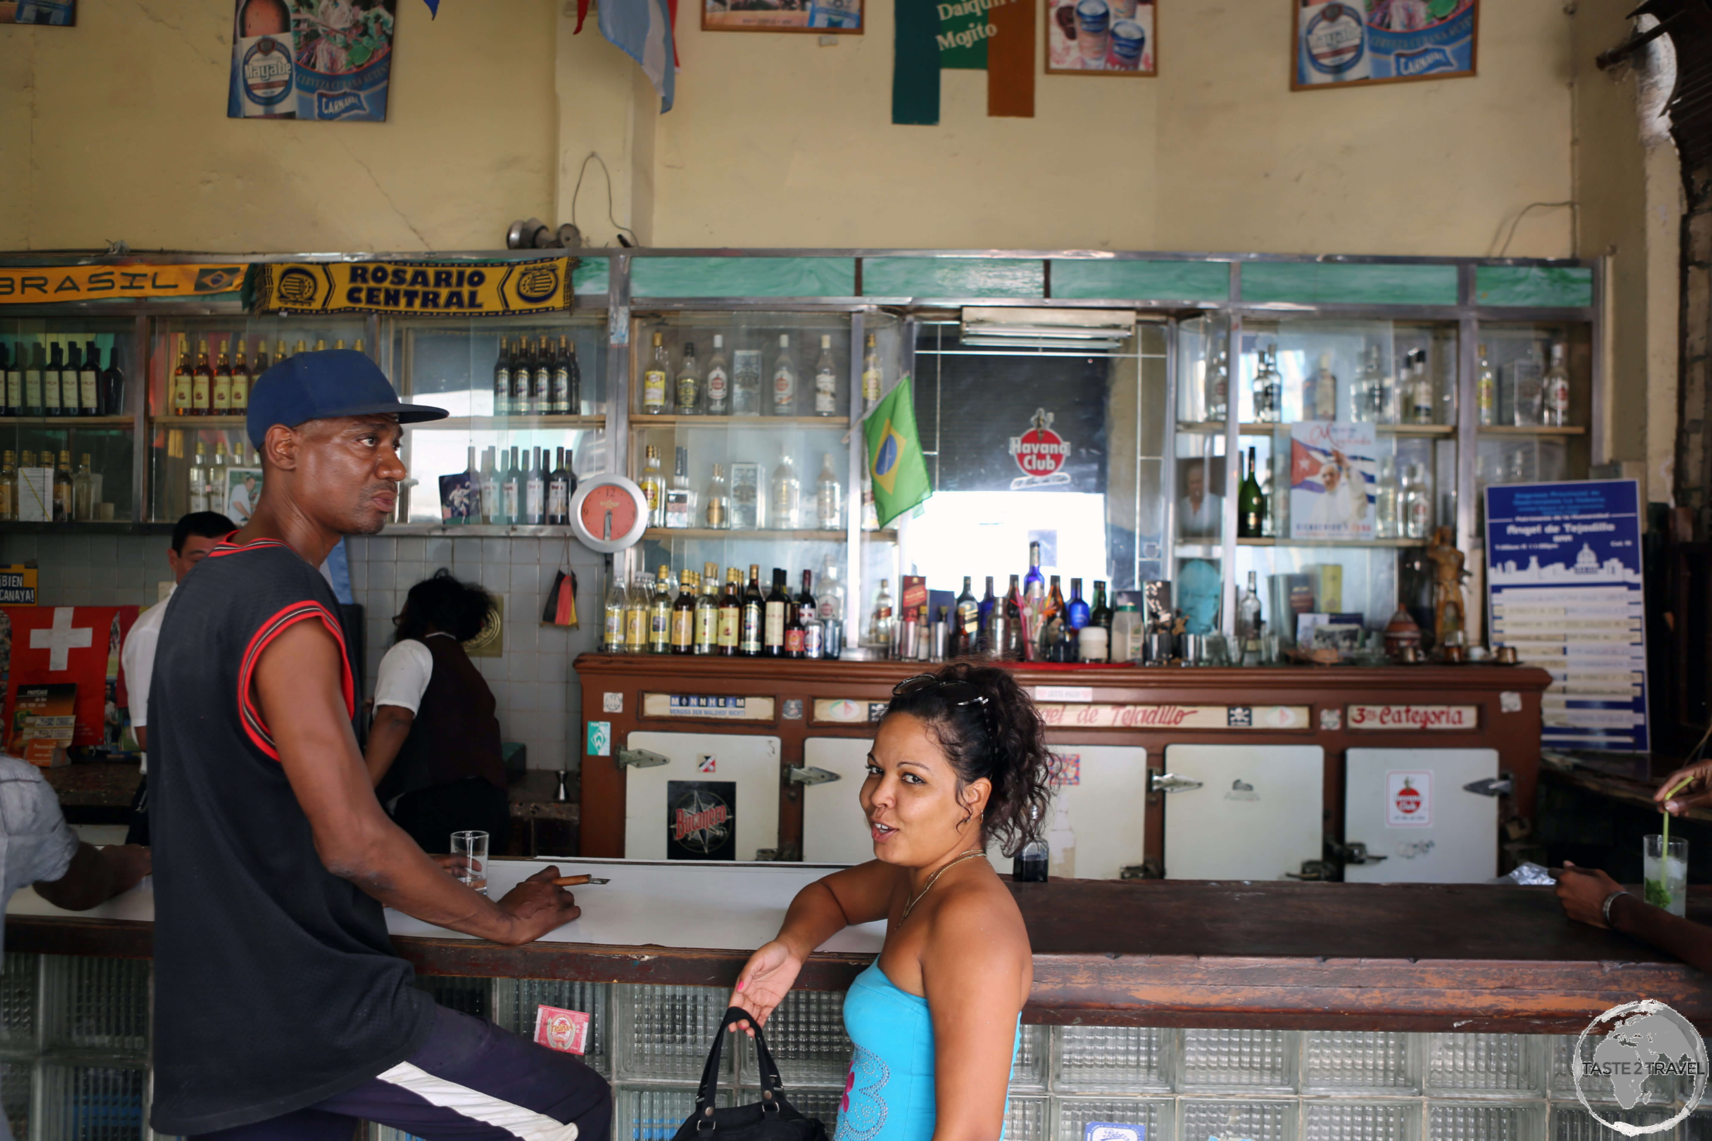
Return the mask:
<svg viewBox="0 0 1712 1141">
<path fill-rule="evenodd" d="M 130 318 L 0 320 L 0 520 L 132 518 L 134 347 Z"/>
</svg>

